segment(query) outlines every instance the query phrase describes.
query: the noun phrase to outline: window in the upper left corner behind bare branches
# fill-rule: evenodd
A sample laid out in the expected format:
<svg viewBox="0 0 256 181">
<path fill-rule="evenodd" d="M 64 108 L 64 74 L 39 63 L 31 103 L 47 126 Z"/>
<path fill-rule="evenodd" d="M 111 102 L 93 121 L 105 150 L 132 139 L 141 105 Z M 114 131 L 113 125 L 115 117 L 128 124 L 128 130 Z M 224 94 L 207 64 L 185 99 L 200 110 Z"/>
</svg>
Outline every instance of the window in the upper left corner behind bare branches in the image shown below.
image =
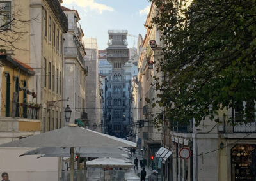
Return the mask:
<svg viewBox="0 0 256 181">
<path fill-rule="evenodd" d="M 10 29 L 11 27 L 11 3 L 0 3 L 0 27 L 3 29 Z"/>
</svg>

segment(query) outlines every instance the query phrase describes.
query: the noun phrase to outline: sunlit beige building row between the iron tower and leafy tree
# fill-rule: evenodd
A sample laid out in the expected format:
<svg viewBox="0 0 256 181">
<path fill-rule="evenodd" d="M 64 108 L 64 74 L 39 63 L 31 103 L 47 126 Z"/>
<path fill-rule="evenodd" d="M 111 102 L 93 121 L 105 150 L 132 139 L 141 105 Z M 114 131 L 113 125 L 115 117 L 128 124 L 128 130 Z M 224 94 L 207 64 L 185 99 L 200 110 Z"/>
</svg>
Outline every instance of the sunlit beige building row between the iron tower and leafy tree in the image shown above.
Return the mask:
<svg viewBox="0 0 256 181">
<path fill-rule="evenodd" d="M 161 59 L 161 43 L 160 43 L 160 33 L 156 29 L 156 25 L 152 28 L 152 18 L 156 15 L 156 8 L 152 4 L 150 12 L 148 13 L 147 20 L 145 22 L 145 27 L 147 29 L 147 34 L 143 40 L 142 51 L 140 54 L 140 59 L 138 61 L 138 123 L 144 122 L 139 128 L 138 136 L 138 147 L 143 149 L 143 159 L 147 160 L 148 166 L 152 169 L 157 168 L 158 163 L 154 163 L 150 156 L 154 156 L 157 150 L 161 146 L 161 132 L 154 127 L 153 120 L 157 116 L 157 113 L 161 113 L 161 108 L 153 108 L 151 104 L 145 101 L 145 98 L 152 100 L 157 99 L 157 94 L 151 83 L 154 82 L 153 76 L 162 77 L 161 73 L 157 73 L 156 64 L 158 59 Z M 157 48 L 150 48 L 150 40 L 156 40 Z M 152 64 L 151 62 L 154 62 Z M 135 93 L 135 92 L 134 92 Z"/>
</svg>

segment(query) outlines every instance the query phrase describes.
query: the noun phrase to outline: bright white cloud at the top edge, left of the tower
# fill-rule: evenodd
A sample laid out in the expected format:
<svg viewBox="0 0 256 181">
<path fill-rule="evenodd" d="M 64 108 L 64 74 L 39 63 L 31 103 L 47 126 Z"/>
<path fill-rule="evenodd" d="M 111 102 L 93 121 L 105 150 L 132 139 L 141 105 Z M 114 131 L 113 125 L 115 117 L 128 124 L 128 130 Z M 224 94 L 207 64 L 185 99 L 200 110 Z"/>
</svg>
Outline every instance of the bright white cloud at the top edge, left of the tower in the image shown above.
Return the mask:
<svg viewBox="0 0 256 181">
<path fill-rule="evenodd" d="M 96 3 L 94 0 L 63 0 L 63 5 L 76 3 L 77 6 L 81 6 L 82 8 L 90 8 L 91 10 L 97 10 L 100 14 L 103 11 L 113 11 L 114 9 L 110 6 L 106 6 L 105 4 Z"/>
</svg>

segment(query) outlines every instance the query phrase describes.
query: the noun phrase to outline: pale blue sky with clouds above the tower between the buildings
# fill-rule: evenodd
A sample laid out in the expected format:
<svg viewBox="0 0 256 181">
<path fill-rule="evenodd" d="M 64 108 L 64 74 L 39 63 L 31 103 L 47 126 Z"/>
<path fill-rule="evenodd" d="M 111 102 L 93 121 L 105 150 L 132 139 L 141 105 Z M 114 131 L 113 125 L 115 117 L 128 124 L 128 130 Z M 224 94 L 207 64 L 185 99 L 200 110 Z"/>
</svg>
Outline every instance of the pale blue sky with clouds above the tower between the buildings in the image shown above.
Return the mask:
<svg viewBox="0 0 256 181">
<path fill-rule="evenodd" d="M 145 36 L 148 0 L 63 0 L 62 6 L 78 11 L 84 37 L 96 37 L 99 50 L 108 47 L 108 29 L 125 29 L 128 34 Z M 127 41 L 132 48 L 134 38 L 127 36 Z"/>
</svg>

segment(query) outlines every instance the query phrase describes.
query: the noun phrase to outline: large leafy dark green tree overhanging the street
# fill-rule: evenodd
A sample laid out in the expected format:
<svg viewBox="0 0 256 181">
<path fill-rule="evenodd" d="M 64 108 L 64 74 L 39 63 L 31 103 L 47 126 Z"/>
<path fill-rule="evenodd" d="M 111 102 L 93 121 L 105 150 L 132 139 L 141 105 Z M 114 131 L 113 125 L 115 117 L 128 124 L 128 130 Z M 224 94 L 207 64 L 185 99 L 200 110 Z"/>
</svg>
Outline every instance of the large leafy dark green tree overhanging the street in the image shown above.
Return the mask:
<svg viewBox="0 0 256 181">
<path fill-rule="evenodd" d="M 150 0 L 151 1 L 151 0 Z M 177 122 L 205 117 L 218 122 L 218 111 L 246 101 L 248 117 L 256 98 L 255 0 L 155 0 L 154 24 L 164 41 L 154 87 L 156 103 Z M 244 111 L 245 110 L 245 111 Z M 253 109 L 254 110 L 254 109 Z M 242 119 L 249 122 L 249 119 Z M 157 121 L 157 120 L 156 120 Z"/>
</svg>

